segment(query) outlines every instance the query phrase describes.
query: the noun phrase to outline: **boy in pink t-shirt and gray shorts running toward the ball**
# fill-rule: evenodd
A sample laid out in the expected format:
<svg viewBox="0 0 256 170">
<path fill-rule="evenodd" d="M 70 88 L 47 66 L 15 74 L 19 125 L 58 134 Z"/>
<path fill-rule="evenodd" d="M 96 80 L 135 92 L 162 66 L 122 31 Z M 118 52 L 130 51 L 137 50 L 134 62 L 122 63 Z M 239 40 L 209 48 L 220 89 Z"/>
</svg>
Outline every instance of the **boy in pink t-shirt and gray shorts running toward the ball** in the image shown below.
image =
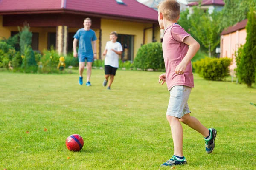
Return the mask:
<svg viewBox="0 0 256 170">
<path fill-rule="evenodd" d="M 166 118 L 171 126 L 174 143 L 174 155 L 161 166 L 186 164 L 183 156 L 183 129 L 180 122 L 188 125 L 204 136 L 205 149 L 212 153 L 215 147 L 217 131 L 207 129 L 198 119 L 190 116 L 188 99 L 194 87 L 191 59 L 199 50 L 199 43 L 191 37 L 177 21 L 180 17 L 180 4 L 177 0 L 164 0 L 158 6 L 158 22 L 165 30 L 163 36 L 163 58 L 166 73 L 159 76 L 159 83 L 166 82 L 170 91 Z"/>
</svg>

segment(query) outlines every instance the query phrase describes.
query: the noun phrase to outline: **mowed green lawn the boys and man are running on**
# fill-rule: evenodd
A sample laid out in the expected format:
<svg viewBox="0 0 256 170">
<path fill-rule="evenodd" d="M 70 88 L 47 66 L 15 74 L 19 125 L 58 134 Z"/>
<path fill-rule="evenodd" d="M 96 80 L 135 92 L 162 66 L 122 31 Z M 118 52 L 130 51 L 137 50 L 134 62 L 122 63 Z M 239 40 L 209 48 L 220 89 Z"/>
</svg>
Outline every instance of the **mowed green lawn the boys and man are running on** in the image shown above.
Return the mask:
<svg viewBox="0 0 256 170">
<path fill-rule="evenodd" d="M 102 70 L 93 70 L 92 87 L 78 85 L 78 74 L 1 72 L 0 169 L 170 169 L 160 167 L 173 154 L 169 91 L 158 84 L 160 74 L 118 70 L 108 91 Z M 255 86 L 195 74 L 190 110 L 218 136 L 214 152 L 207 154 L 203 137 L 183 125 L 188 164 L 175 169 L 256 169 L 256 107 L 250 102 L 256 102 Z M 67 150 L 71 134 L 83 137 L 81 151 Z"/>
</svg>

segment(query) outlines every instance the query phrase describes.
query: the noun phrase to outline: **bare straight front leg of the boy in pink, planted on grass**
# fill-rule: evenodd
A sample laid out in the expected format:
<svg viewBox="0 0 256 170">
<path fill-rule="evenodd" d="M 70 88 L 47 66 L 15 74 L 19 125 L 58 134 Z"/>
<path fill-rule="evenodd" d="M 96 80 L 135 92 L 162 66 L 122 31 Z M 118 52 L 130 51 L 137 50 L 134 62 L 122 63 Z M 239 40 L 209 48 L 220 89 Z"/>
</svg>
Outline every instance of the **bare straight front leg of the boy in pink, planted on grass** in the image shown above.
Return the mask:
<svg viewBox="0 0 256 170">
<path fill-rule="evenodd" d="M 180 124 L 179 118 L 169 115 L 166 115 L 166 118 L 171 126 L 174 155 L 183 157 L 183 128 Z"/>
</svg>

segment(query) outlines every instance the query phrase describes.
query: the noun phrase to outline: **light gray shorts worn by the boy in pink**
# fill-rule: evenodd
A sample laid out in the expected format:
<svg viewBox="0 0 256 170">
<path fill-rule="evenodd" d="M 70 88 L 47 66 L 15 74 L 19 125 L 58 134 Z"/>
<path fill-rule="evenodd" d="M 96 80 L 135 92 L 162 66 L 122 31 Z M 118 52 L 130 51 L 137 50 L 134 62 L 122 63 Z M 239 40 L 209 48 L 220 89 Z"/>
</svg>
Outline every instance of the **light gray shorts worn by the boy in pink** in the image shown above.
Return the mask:
<svg viewBox="0 0 256 170">
<path fill-rule="evenodd" d="M 170 100 L 166 115 L 181 119 L 185 114 L 190 113 L 188 106 L 189 94 L 192 88 L 177 85 L 170 90 Z"/>
</svg>

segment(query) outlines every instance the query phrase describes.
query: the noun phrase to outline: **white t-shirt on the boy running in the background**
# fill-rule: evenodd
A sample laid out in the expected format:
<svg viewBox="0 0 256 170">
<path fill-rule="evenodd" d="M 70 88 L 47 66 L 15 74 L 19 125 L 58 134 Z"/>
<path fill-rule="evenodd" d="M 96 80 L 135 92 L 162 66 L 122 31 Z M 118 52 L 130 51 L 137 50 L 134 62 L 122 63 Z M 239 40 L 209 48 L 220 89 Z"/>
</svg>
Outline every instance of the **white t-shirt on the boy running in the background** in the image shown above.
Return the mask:
<svg viewBox="0 0 256 170">
<path fill-rule="evenodd" d="M 116 54 L 114 51 L 112 51 L 111 49 L 114 49 L 116 51 L 122 51 L 122 45 L 119 42 L 111 42 L 108 41 L 106 43 L 106 47 L 105 47 L 107 51 L 106 57 L 105 57 L 105 65 L 110 65 L 111 67 L 115 67 L 118 68 L 119 67 L 119 55 Z"/>
</svg>

